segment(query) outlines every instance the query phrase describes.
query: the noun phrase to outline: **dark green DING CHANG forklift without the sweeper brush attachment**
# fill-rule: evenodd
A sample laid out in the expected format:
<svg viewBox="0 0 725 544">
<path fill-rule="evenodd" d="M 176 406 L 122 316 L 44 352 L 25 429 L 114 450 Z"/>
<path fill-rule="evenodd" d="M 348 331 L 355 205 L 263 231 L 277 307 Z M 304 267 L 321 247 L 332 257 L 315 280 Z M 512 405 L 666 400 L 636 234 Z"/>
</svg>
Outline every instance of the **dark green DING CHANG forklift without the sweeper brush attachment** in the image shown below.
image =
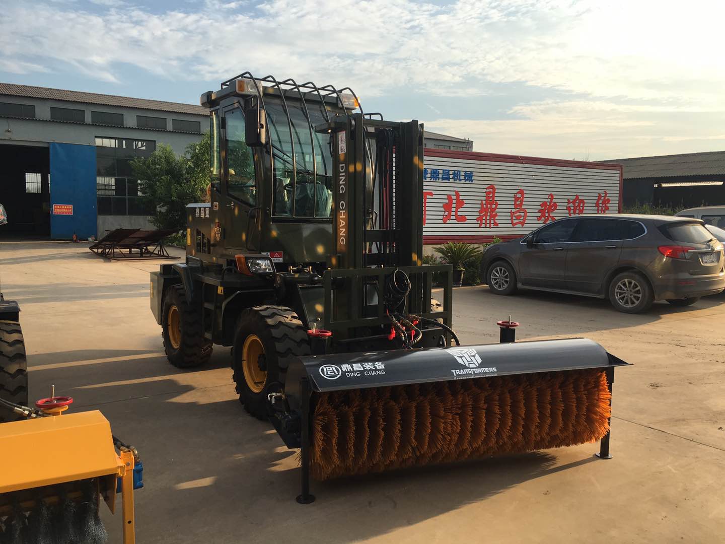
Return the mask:
<svg viewBox="0 0 725 544">
<path fill-rule="evenodd" d="M 210 202 L 186 207 L 186 262 L 151 275 L 170 363 L 231 346 L 239 400 L 266 419 L 295 356 L 450 345 L 452 268 L 421 260 L 421 123 L 249 72 L 201 103 Z"/>
</svg>

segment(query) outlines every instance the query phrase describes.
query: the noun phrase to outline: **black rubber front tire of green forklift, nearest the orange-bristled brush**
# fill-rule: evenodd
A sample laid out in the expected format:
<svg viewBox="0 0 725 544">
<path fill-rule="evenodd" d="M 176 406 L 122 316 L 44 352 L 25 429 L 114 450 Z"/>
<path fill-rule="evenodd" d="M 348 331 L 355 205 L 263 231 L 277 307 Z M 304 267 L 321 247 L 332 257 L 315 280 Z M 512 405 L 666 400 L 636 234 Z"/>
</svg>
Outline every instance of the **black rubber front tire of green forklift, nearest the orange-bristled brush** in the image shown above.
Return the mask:
<svg viewBox="0 0 725 544">
<path fill-rule="evenodd" d="M 267 379 L 261 392 L 249 388 L 241 364 L 244 340 L 250 334 L 256 334 L 265 348 Z M 231 348 L 232 378 L 244 409 L 257 419 L 267 420 L 270 416 L 268 395 L 283 390 L 290 360 L 295 355 L 310 353 L 307 329 L 294 310 L 272 305 L 244 310 L 237 319 Z"/>
</svg>

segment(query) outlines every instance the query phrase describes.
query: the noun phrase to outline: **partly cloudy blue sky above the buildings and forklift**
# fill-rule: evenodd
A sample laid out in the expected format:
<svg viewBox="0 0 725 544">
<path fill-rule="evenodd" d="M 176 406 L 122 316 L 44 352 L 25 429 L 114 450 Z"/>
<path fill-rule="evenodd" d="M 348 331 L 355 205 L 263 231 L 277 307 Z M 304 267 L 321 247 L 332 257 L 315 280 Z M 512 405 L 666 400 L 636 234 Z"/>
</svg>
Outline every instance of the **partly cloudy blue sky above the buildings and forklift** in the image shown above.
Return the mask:
<svg viewBox="0 0 725 544">
<path fill-rule="evenodd" d="M 195 104 L 252 70 L 477 151 L 713 151 L 722 20 L 721 0 L 25 0 L 0 11 L 0 81 Z"/>
</svg>

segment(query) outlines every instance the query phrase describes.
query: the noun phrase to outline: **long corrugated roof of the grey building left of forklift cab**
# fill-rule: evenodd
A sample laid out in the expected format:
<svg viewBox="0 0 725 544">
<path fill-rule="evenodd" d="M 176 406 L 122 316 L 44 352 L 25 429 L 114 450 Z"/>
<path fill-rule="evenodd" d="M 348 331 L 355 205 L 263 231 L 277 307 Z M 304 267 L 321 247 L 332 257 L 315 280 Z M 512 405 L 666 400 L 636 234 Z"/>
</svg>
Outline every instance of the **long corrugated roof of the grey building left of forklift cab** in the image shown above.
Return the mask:
<svg viewBox="0 0 725 544">
<path fill-rule="evenodd" d="M 65 100 L 67 102 L 83 102 L 85 104 L 101 104 L 104 106 L 134 107 L 140 110 L 156 110 L 159 112 L 209 115 L 209 110 L 205 107 L 194 106 L 194 104 L 179 104 L 178 102 L 164 102 L 162 100 L 130 98 L 129 96 L 115 96 L 113 94 L 66 91 L 62 88 L 15 85 L 14 83 L 0 83 L 0 95 L 2 94 L 8 96 L 20 96 L 22 98 L 28 97 Z"/>
</svg>

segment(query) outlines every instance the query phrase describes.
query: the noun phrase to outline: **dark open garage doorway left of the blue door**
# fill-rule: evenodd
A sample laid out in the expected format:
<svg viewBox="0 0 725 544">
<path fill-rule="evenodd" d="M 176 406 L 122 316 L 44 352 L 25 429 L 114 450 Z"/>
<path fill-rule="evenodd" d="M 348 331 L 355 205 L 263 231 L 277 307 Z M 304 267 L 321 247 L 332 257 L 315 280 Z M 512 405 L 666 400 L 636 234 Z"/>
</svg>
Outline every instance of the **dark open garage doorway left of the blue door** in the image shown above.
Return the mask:
<svg viewBox="0 0 725 544">
<path fill-rule="evenodd" d="M 7 238 L 50 235 L 49 149 L 0 144 L 0 204 L 8 224 L 0 229 Z"/>
</svg>

